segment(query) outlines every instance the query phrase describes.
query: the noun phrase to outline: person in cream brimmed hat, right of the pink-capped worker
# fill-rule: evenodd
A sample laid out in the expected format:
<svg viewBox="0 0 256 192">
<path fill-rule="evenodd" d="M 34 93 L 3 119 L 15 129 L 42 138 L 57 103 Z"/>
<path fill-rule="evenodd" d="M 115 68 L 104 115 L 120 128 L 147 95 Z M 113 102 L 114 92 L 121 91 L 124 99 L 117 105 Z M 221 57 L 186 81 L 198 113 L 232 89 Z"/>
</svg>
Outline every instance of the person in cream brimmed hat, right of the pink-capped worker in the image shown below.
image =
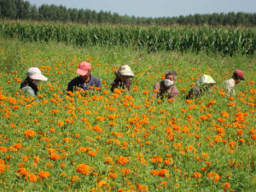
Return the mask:
<svg viewBox="0 0 256 192">
<path fill-rule="evenodd" d="M 110 90 L 113 92 L 114 89 L 127 89 L 130 90 L 131 78 L 134 78 L 134 73 L 131 71 L 131 67 L 128 65 L 120 66 L 115 74 L 115 79 L 111 83 Z"/>
</svg>

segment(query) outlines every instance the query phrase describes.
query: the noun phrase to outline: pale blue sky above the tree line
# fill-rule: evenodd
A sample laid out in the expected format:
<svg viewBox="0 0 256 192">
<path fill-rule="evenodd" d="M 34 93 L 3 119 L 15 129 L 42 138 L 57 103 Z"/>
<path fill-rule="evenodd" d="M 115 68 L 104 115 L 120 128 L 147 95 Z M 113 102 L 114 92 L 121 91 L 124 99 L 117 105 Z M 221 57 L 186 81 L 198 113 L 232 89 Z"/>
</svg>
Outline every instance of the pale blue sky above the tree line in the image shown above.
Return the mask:
<svg viewBox="0 0 256 192">
<path fill-rule="evenodd" d="M 145 17 L 246 12 L 256 13 L 256 0 L 28 0 L 67 8 L 111 11 Z"/>
</svg>

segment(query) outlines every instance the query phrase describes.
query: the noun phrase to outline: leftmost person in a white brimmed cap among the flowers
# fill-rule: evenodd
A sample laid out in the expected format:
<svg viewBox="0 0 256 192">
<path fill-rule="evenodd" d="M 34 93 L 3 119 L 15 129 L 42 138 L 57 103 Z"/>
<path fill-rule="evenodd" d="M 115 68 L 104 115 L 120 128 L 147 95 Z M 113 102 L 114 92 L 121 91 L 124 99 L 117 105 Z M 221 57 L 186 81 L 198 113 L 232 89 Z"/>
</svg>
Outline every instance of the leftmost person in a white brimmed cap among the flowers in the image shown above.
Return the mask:
<svg viewBox="0 0 256 192">
<path fill-rule="evenodd" d="M 27 71 L 26 79 L 20 84 L 20 90 L 29 96 L 37 96 L 38 84 L 41 81 L 47 81 L 47 78 L 41 73 L 38 67 L 31 67 Z"/>
</svg>

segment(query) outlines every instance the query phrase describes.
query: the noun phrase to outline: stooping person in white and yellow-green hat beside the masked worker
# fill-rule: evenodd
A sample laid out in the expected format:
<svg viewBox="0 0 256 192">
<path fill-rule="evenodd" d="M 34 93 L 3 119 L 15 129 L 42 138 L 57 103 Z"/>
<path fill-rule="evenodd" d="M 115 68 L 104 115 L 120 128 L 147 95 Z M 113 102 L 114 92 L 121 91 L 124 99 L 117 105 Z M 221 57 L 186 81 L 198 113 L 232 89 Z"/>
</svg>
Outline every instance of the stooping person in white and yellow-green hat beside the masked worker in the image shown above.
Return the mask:
<svg viewBox="0 0 256 192">
<path fill-rule="evenodd" d="M 186 100 L 198 98 L 204 95 L 205 93 L 209 92 L 213 84 L 216 84 L 216 82 L 210 75 L 201 75 L 200 79 L 197 80 L 196 85 L 189 90 L 189 93 L 187 93 Z"/>
</svg>

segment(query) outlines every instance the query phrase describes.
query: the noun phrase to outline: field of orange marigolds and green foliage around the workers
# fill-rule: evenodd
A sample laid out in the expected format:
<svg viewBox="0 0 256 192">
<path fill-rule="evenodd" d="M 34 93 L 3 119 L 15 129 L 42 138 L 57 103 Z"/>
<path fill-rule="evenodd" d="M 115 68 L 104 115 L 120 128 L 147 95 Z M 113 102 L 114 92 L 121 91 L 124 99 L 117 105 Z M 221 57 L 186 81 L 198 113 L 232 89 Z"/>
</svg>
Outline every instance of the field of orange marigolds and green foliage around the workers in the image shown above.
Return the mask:
<svg viewBox="0 0 256 192">
<path fill-rule="evenodd" d="M 67 95 L 79 62 L 102 91 Z M 131 91 L 110 91 L 129 64 Z M 0 38 L 0 191 L 255 191 L 255 55 L 196 55 L 121 46 L 76 48 Z M 48 77 L 38 100 L 20 94 L 29 67 Z M 177 72 L 177 101 L 152 98 Z M 228 96 L 236 69 L 245 81 Z M 201 74 L 212 94 L 185 100 Z"/>
</svg>

